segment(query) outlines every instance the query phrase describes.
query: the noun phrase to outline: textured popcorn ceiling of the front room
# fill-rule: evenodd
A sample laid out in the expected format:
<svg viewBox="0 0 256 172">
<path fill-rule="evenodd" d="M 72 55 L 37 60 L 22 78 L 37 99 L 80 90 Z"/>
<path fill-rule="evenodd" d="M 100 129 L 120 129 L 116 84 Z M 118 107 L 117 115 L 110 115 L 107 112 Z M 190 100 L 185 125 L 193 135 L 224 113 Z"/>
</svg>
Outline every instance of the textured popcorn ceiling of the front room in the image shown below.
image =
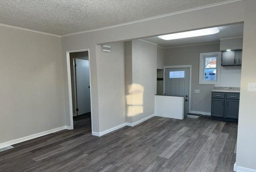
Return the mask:
<svg viewBox="0 0 256 172">
<path fill-rule="evenodd" d="M 0 23 L 65 35 L 225 0 L 0 0 Z"/>
</svg>

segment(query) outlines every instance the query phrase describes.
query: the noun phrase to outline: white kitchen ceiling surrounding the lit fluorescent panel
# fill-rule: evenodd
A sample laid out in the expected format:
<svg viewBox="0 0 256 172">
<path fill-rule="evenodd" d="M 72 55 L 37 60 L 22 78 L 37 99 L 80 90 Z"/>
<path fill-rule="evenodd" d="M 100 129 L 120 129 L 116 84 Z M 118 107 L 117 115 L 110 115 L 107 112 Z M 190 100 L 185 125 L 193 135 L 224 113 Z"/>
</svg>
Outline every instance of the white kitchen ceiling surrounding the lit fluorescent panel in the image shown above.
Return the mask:
<svg viewBox="0 0 256 172">
<path fill-rule="evenodd" d="M 174 39 L 174 40 L 163 40 L 158 37 L 149 37 L 144 38 L 144 40 L 156 43 L 162 47 L 177 47 L 184 45 L 194 45 L 194 44 L 204 44 L 204 43 L 213 43 L 219 42 L 222 38 L 229 37 L 243 37 L 244 24 L 235 24 L 235 25 L 226 25 L 218 27 L 220 30 L 219 33 L 213 35 L 199 36 L 199 37 L 190 37 L 183 39 Z"/>
</svg>

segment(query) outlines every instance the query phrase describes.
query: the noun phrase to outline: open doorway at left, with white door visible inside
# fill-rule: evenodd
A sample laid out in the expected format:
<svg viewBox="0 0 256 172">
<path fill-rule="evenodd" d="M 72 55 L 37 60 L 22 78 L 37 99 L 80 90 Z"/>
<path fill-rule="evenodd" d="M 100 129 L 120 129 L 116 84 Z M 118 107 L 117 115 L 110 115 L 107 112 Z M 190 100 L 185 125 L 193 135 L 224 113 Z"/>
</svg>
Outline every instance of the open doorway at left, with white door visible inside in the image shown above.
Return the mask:
<svg viewBox="0 0 256 172">
<path fill-rule="evenodd" d="M 89 51 L 67 52 L 70 129 L 91 127 Z"/>
</svg>

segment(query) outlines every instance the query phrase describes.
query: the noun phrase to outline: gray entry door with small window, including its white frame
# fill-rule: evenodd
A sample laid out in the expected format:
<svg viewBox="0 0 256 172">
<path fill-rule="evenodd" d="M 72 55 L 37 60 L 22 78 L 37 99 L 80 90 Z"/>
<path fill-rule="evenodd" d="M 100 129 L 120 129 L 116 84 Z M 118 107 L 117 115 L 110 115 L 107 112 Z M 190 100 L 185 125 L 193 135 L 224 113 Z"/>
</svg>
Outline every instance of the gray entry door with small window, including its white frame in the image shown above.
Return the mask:
<svg viewBox="0 0 256 172">
<path fill-rule="evenodd" d="M 190 65 L 164 67 L 164 95 L 184 96 L 184 118 L 190 109 L 190 73 Z"/>
</svg>

